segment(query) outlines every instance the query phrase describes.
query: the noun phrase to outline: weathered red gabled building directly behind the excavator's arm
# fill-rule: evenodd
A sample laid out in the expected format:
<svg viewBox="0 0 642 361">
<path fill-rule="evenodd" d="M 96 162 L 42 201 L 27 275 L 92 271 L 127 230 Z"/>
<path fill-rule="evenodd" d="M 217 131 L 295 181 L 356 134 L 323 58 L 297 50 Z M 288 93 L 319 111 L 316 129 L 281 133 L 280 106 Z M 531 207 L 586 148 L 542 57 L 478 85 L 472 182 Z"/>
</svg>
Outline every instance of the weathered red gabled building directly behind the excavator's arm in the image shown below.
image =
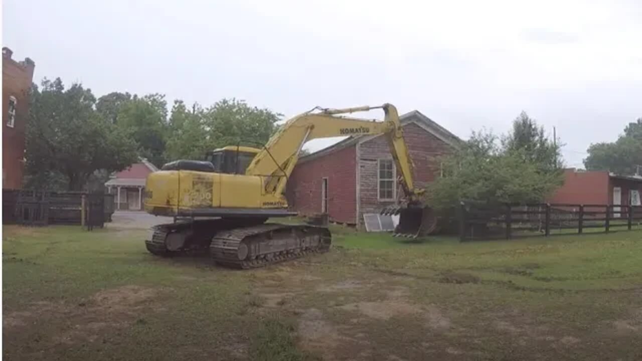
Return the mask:
<svg viewBox="0 0 642 361">
<path fill-rule="evenodd" d="M 410 157 L 414 180 L 426 186 L 441 174 L 438 157 L 446 155 L 460 139 L 421 112 L 399 117 Z M 392 154 L 385 137 L 349 137 L 299 159 L 286 197 L 302 215 L 327 213 L 333 222 L 362 225 L 363 214 L 378 213 L 401 197 Z"/>
</svg>

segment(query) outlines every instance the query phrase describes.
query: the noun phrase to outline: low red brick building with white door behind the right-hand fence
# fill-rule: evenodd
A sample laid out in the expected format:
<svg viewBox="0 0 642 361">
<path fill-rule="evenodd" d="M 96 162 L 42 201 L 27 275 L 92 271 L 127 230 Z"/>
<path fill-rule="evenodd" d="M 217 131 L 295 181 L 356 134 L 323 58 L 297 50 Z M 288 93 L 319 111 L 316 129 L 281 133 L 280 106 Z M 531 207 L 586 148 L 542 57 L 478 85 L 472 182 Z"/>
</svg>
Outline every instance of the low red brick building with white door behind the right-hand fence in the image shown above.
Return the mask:
<svg viewBox="0 0 642 361">
<path fill-rule="evenodd" d="M 616 175 L 608 171 L 564 170 L 564 185 L 550 203 L 640 205 L 642 176 Z"/>
</svg>

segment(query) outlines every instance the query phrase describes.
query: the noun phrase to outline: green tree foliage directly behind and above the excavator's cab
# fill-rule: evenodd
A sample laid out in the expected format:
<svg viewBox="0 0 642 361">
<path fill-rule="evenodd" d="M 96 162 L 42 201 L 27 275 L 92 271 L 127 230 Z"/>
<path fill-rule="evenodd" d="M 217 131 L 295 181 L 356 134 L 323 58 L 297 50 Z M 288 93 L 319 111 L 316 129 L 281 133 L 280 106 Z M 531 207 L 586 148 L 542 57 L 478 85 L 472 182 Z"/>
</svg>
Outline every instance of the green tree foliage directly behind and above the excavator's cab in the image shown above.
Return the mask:
<svg viewBox="0 0 642 361">
<path fill-rule="evenodd" d="M 245 101 L 223 99 L 207 109 L 187 109 L 176 101 L 169 118 L 168 159 L 201 159 L 227 145 L 261 147 L 276 129 L 281 114 L 251 107 Z"/>
</svg>

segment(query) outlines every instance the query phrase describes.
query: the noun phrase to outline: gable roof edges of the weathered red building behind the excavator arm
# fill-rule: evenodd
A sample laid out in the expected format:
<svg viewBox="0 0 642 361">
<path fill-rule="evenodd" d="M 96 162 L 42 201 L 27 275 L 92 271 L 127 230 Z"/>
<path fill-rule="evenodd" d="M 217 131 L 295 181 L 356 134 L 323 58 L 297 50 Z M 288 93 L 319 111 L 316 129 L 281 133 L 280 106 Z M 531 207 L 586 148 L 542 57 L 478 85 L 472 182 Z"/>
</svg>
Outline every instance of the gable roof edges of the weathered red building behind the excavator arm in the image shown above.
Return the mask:
<svg viewBox="0 0 642 361">
<path fill-rule="evenodd" d="M 426 132 L 433 134 L 433 136 L 441 139 L 442 141 L 444 141 L 444 143 L 451 145 L 454 148 L 458 148 L 459 143 L 462 142 L 462 139 L 455 136 L 455 134 L 449 132 L 446 128 L 442 127 L 441 125 L 438 125 L 436 121 L 433 121 L 432 119 L 428 118 L 427 116 L 422 114 L 422 112 L 420 112 L 419 110 L 413 110 L 412 112 L 408 112 L 406 114 L 399 116 L 399 121 L 401 122 L 401 125 L 415 123 L 419 125 L 419 127 L 421 127 L 422 129 L 426 130 Z M 363 143 L 365 141 L 369 141 L 370 139 L 373 139 L 382 135 L 383 134 L 376 134 L 374 136 L 350 136 L 331 146 L 328 146 L 321 150 L 317 150 L 317 152 L 300 157 L 298 163 L 305 163 L 313 159 L 323 157 L 324 155 L 332 154 L 338 150 L 342 150 L 343 148 L 347 148 L 356 143 Z"/>
</svg>

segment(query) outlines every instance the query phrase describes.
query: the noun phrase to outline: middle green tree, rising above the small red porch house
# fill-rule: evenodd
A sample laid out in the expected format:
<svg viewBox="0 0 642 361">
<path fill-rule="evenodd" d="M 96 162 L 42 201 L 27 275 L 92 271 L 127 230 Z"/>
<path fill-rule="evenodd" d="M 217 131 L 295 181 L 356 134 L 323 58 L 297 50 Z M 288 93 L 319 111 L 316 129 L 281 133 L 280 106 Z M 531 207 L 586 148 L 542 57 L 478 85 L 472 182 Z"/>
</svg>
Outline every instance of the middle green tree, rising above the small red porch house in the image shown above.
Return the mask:
<svg viewBox="0 0 642 361">
<path fill-rule="evenodd" d="M 134 95 L 120 106 L 116 125 L 134 139 L 141 157 L 161 166 L 165 161 L 166 119 L 167 102 L 162 94 Z"/>
</svg>

